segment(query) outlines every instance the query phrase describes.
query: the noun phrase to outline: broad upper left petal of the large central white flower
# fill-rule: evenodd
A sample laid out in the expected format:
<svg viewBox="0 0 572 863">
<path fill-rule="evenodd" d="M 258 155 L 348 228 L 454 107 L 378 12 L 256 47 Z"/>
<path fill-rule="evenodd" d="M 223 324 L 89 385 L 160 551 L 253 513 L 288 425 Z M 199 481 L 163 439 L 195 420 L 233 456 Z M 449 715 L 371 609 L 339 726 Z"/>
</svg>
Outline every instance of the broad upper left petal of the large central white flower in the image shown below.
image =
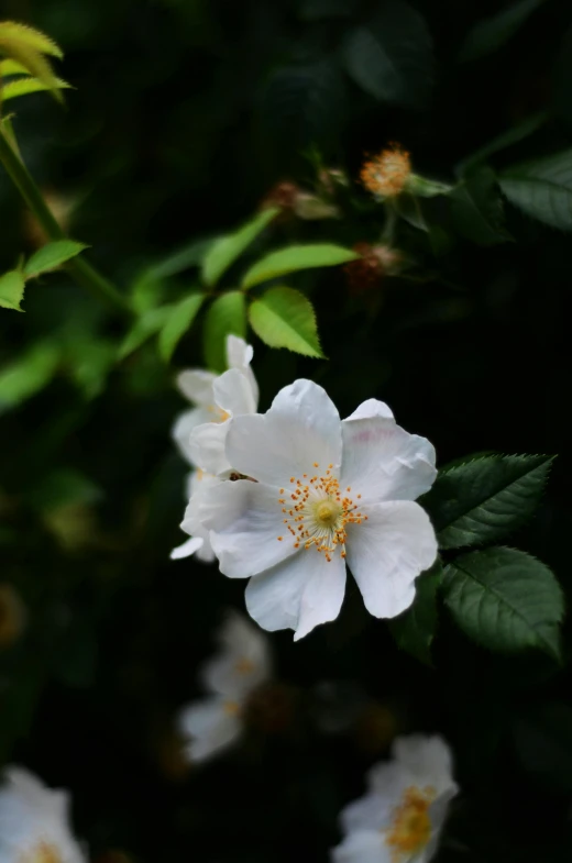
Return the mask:
<svg viewBox="0 0 572 863">
<path fill-rule="evenodd" d="M 227 438 L 227 458 L 241 474 L 284 486 L 341 460 L 340 417 L 327 392 L 311 380 L 282 389 L 265 414 L 237 417 Z M 319 465 L 319 468 L 315 467 Z"/>
</svg>

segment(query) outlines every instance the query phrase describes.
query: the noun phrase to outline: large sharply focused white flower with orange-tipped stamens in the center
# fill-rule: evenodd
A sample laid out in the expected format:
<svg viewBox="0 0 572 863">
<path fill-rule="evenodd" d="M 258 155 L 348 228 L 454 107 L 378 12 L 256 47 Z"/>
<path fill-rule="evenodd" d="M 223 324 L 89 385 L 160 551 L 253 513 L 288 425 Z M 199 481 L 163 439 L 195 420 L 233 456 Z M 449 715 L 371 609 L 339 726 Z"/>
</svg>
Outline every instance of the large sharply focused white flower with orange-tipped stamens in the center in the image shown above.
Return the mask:
<svg viewBox="0 0 572 863">
<path fill-rule="evenodd" d="M 435 562 L 437 540 L 415 498 L 436 477 L 435 450 L 370 399 L 346 420 L 310 380 L 282 389 L 265 414 L 235 417 L 232 467 L 252 479 L 220 483 L 199 507 L 231 578 L 253 576 L 246 607 L 264 629 L 295 639 L 334 620 L 345 558 L 375 617 L 413 602 L 415 578 Z"/>
</svg>

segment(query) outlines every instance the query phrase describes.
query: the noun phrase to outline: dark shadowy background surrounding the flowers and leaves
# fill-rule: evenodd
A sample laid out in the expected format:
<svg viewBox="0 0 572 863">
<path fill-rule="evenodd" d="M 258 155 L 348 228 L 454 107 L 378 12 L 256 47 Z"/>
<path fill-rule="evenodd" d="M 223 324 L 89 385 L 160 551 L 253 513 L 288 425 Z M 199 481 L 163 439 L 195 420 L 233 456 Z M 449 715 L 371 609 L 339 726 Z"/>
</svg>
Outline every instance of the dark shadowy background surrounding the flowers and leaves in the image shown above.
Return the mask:
<svg viewBox="0 0 572 863">
<path fill-rule="evenodd" d="M 415 5 L 432 37 L 432 73 L 417 85 L 414 75 L 409 95 L 389 104 L 340 60 L 349 29 L 370 26 L 384 0 L 4 2 L 3 18 L 57 40 L 62 75 L 77 88 L 65 110 L 43 95 L 14 103 L 23 155 L 44 189 L 76 199 L 73 235 L 128 289 L 147 263 L 248 218 L 273 184 L 309 187 L 311 148 L 354 182 L 364 153 L 399 141 L 417 172 L 453 182 L 461 159 L 538 111 L 546 122 L 492 166 L 571 146 L 569 3 L 539 3 L 497 51 L 465 63 L 466 33 L 502 4 Z M 280 222 L 273 243 L 373 241 L 380 212 L 354 195 L 361 204 L 342 219 Z M 271 352 L 253 336 L 254 369 L 263 410 L 299 376 L 323 384 L 342 416 L 365 398 L 386 400 L 435 443 L 441 465 L 470 452 L 559 453 L 541 510 L 510 544 L 551 565 L 570 595 L 572 245 L 508 204 L 505 215 L 510 242 L 483 247 L 437 201 L 440 248 L 400 229 L 425 278 L 385 278 L 373 299 L 351 295 L 342 270 L 301 277 L 330 361 Z M 34 240 L 3 175 L 0 218 L 6 269 Z M 124 331 L 65 276 L 30 287 L 25 310 L 0 314 L 6 364 L 38 340 L 65 333 L 97 352 Z M 201 365 L 197 333 L 177 348 L 176 368 Z M 144 347 L 87 394 L 74 365 L 72 352 L 0 419 L 1 578 L 29 617 L 0 654 L 0 757 L 73 790 L 94 859 L 116 850 L 142 861 L 326 861 L 339 810 L 396 730 L 439 731 L 455 753 L 462 794 L 439 860 L 571 853 L 568 666 L 490 655 L 443 609 L 435 667 L 424 667 L 365 615 L 351 584 L 336 623 L 296 645 L 290 633 L 272 635 L 286 689 L 244 745 L 186 772 L 173 716 L 198 695 L 197 667 L 224 607 L 243 607 L 243 585 L 168 562 L 186 474 L 169 440 L 184 408 L 174 368 Z M 355 707 L 338 734 L 319 730 L 334 709 L 319 697 L 323 682 Z"/>
</svg>

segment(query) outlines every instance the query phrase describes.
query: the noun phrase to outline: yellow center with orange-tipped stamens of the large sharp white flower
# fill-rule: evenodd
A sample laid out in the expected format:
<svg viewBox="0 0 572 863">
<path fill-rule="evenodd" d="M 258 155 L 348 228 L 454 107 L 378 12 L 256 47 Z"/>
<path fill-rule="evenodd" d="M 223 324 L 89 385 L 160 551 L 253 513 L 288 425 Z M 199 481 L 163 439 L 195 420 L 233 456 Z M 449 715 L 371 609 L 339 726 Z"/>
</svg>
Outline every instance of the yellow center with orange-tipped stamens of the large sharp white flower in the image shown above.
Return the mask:
<svg viewBox="0 0 572 863">
<path fill-rule="evenodd" d="M 318 462 L 314 463 L 319 467 Z M 310 549 L 312 545 L 331 561 L 339 549 L 345 557 L 348 524 L 361 524 L 367 520 L 359 511 L 359 505 L 350 497 L 351 486 L 340 488 L 340 482 L 332 476 L 333 465 L 328 465 L 323 476 L 318 474 L 301 479 L 290 477 L 292 491 L 280 488 L 278 504 L 284 515 L 284 524 L 294 539 L 295 549 Z M 356 499 L 361 495 L 355 496 Z M 282 542 L 285 538 L 277 536 Z"/>
</svg>

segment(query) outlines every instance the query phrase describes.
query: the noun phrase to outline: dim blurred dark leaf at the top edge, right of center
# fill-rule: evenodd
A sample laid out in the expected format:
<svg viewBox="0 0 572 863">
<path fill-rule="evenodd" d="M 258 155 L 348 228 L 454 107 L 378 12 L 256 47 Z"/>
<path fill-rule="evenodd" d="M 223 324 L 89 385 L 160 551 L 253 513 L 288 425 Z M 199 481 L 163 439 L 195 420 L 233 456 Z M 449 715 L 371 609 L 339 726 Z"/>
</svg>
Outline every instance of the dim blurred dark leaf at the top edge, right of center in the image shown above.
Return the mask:
<svg viewBox="0 0 572 863">
<path fill-rule="evenodd" d="M 433 78 L 432 42 L 424 18 L 403 0 L 385 0 L 367 26 L 342 46 L 349 76 L 382 102 L 421 108 Z"/>
</svg>

